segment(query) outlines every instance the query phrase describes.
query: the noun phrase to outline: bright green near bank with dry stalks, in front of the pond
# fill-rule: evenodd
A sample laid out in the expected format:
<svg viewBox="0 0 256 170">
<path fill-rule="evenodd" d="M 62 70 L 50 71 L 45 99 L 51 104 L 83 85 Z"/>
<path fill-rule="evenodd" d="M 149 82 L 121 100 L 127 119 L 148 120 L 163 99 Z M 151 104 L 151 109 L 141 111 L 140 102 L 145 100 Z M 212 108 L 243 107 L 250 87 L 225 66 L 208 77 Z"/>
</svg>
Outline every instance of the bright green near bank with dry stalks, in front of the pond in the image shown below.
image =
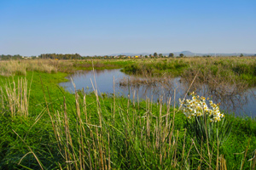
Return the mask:
<svg viewBox="0 0 256 170">
<path fill-rule="evenodd" d="M 255 119 L 226 115 L 233 128 L 224 144 L 200 144 L 177 107 L 96 91 L 69 94 L 57 85 L 67 73 L 50 72 L 0 77 L 0 169 L 255 168 Z M 30 91 L 20 91 L 28 115 L 14 116 L 6 88 L 21 78 Z"/>
</svg>

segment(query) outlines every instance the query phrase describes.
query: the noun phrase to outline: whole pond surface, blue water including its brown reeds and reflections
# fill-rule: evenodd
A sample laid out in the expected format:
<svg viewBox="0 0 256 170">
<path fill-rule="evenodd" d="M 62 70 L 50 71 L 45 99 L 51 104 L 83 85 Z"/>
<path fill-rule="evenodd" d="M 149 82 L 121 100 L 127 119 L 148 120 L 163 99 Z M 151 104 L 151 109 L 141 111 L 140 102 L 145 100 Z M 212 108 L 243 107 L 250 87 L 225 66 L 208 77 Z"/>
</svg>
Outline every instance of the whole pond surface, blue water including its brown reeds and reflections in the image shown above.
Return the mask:
<svg viewBox="0 0 256 170">
<path fill-rule="evenodd" d="M 115 92 L 119 95 L 128 96 L 131 98 L 146 99 L 153 97 L 157 101 L 160 96 L 163 96 L 164 101 L 172 98 L 174 101 L 183 98 L 189 89 L 190 82 L 180 77 L 131 77 L 115 70 L 96 70 L 93 71 L 78 71 L 75 74 L 67 77 L 73 79 L 77 89 L 86 89 L 92 91 L 91 82 L 101 93 L 113 94 L 113 77 Z M 72 82 L 61 82 L 60 85 L 68 91 L 74 91 Z M 195 91 L 199 95 L 212 99 L 214 103 L 220 103 L 220 109 L 226 112 L 235 112 L 236 115 L 256 116 L 256 88 L 238 89 L 235 86 L 228 84 L 220 84 L 211 87 L 207 84 L 195 83 L 190 90 Z"/>
</svg>

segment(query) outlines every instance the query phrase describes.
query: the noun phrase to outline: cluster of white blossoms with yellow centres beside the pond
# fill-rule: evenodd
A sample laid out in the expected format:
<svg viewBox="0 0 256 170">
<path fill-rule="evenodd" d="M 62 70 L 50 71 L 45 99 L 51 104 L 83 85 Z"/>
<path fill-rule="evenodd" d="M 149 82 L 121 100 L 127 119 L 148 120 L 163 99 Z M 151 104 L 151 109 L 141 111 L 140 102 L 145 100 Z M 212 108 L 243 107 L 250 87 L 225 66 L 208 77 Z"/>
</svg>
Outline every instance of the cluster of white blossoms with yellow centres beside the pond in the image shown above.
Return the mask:
<svg viewBox="0 0 256 170">
<path fill-rule="evenodd" d="M 206 98 L 195 95 L 194 92 L 192 93 L 192 99 L 179 99 L 179 102 L 184 115 L 189 119 L 193 116 L 204 116 L 207 114 L 210 116 L 210 122 L 218 122 L 224 117 L 224 114 L 220 113 L 218 105 L 213 104 L 212 100 L 209 100 L 210 107 L 208 107 Z"/>
</svg>

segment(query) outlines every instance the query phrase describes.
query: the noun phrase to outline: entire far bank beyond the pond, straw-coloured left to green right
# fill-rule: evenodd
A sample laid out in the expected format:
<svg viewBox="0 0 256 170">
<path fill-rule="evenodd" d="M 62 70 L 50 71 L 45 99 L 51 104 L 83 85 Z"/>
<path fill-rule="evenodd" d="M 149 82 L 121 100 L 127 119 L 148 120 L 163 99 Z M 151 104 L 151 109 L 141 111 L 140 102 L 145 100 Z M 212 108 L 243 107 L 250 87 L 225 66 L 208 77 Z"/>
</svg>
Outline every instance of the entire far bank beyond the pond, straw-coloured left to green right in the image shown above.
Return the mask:
<svg viewBox="0 0 256 170">
<path fill-rule="evenodd" d="M 121 69 L 126 74 L 185 77 L 188 82 L 256 85 L 255 57 L 189 57 L 159 59 L 23 59 L 0 62 L 0 75 L 25 75 L 26 71 L 74 73 L 78 70 Z"/>
</svg>

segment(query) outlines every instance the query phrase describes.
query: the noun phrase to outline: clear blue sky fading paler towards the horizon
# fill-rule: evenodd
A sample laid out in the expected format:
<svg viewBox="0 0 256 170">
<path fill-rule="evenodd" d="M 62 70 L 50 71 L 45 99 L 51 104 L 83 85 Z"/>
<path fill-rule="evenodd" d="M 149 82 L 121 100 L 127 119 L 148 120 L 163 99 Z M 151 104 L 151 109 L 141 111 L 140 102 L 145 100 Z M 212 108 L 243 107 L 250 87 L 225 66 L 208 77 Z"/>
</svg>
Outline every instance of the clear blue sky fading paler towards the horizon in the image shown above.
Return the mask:
<svg viewBox="0 0 256 170">
<path fill-rule="evenodd" d="M 256 54 L 255 0 L 0 0 L 0 54 Z"/>
</svg>

